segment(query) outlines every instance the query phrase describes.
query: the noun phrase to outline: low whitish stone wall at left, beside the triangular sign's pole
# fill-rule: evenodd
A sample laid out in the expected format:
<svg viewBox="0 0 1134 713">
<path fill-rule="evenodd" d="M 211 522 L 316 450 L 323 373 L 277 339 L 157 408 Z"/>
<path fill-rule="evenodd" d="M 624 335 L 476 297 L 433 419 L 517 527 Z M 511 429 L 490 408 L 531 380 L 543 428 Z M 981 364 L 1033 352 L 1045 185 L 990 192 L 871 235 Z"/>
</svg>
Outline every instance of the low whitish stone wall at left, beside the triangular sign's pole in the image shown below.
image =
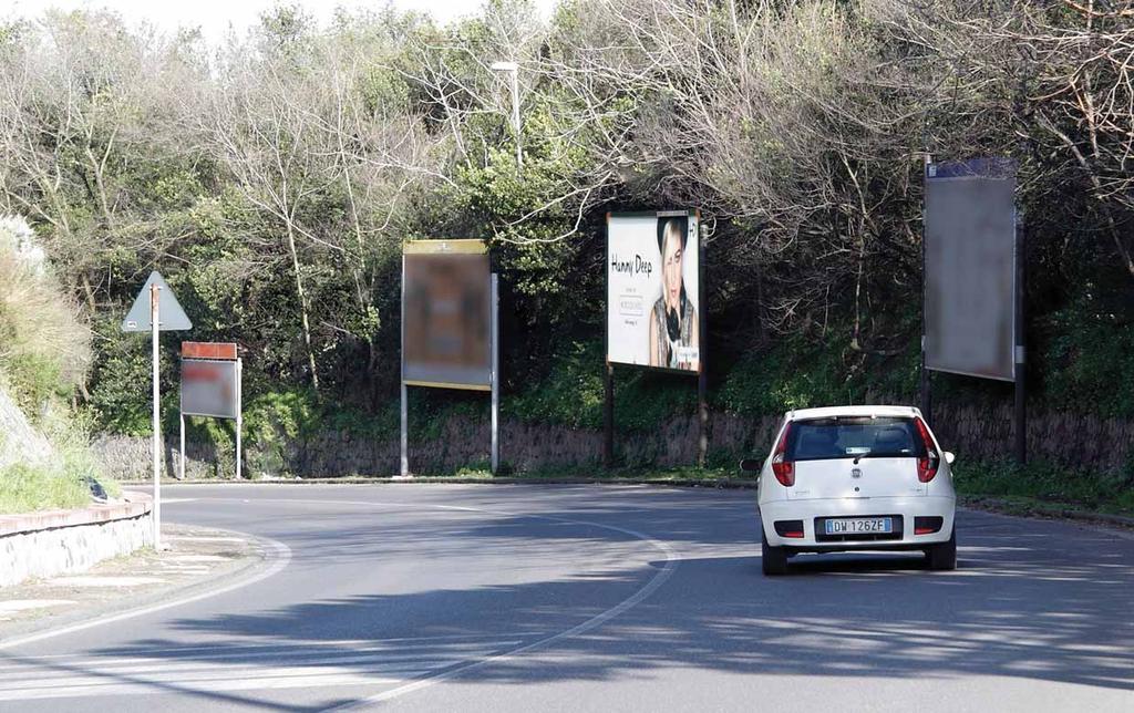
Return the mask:
<svg viewBox="0 0 1134 713">
<path fill-rule="evenodd" d="M 153 545 L 149 495 L 75 510 L 0 516 L 0 587 L 78 572 Z"/>
</svg>

